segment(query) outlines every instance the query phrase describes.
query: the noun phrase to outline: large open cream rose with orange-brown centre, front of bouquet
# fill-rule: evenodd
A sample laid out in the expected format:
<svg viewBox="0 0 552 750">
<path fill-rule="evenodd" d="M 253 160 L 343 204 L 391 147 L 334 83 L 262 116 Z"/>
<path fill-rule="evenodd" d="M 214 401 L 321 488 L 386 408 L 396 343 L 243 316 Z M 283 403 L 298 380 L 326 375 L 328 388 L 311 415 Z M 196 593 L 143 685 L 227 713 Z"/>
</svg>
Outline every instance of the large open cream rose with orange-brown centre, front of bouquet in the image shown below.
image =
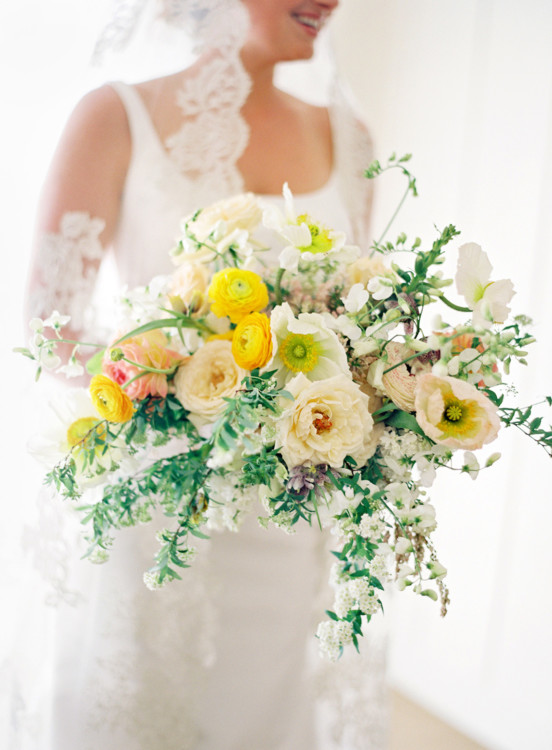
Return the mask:
<svg viewBox="0 0 552 750">
<path fill-rule="evenodd" d="M 305 463 L 339 468 L 345 456 L 364 464 L 374 454 L 378 433 L 368 397 L 347 375 L 311 382 L 299 373 L 286 390 L 294 401 L 276 423 L 276 441 L 288 468 Z"/>
</svg>

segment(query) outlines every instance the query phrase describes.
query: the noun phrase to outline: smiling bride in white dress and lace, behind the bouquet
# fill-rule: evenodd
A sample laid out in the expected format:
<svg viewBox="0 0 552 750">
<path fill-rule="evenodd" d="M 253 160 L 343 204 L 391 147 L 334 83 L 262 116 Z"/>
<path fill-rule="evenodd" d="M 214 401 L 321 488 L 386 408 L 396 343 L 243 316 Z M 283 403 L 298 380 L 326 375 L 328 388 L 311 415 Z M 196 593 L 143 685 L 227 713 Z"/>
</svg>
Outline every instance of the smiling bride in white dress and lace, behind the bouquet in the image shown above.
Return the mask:
<svg viewBox="0 0 552 750">
<path fill-rule="evenodd" d="M 107 84 L 77 105 L 39 210 L 31 316 L 58 309 L 72 316 L 70 336 L 82 337 L 104 258 L 113 256 L 122 283 L 144 284 L 169 270 L 183 216 L 243 191 L 277 202 L 286 181 L 301 212 L 366 249 L 364 126 L 339 92 L 324 108 L 274 83 L 277 64 L 313 55 L 337 4 L 165 0 L 169 22 L 201 39 L 197 59 L 155 80 Z M 120 26 L 100 49 L 116 45 Z M 69 546 L 72 519 L 63 524 Z M 67 552 L 60 598 L 71 601 L 55 615 L 51 689 L 20 698 L 36 721 L 16 747 L 385 746 L 382 641 L 336 665 L 316 653 L 328 577 L 317 529 L 265 531 L 252 513 L 239 534 L 213 533 L 182 582 L 155 592 L 142 583 L 153 536 L 125 529 L 106 566 L 80 561 L 76 542 Z"/>
</svg>

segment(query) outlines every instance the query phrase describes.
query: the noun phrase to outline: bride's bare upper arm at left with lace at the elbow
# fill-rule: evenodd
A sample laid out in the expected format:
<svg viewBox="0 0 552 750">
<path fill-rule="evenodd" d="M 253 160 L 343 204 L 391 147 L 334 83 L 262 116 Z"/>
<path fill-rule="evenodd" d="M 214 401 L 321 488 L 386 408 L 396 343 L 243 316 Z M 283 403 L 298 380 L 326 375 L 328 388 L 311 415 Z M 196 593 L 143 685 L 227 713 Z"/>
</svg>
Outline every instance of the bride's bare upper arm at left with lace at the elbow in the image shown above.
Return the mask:
<svg viewBox="0 0 552 750">
<path fill-rule="evenodd" d="M 130 151 L 115 91 L 104 86 L 87 94 L 65 127 L 42 190 L 25 305 L 28 319 L 54 309 L 71 315 L 67 338 L 83 334 L 97 271 L 117 226 Z"/>
</svg>

